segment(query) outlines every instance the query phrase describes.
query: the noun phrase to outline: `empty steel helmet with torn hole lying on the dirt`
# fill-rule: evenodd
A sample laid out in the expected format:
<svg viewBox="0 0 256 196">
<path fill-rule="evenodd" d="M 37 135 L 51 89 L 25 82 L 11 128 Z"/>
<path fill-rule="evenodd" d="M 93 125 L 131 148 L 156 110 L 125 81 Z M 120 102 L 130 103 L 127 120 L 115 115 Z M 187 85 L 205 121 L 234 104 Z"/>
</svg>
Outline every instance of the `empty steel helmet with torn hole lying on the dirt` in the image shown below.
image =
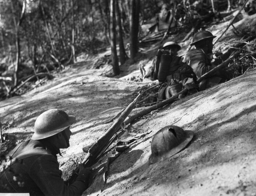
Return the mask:
<svg viewBox="0 0 256 196">
<path fill-rule="evenodd" d="M 193 131 L 183 130 L 174 125 L 160 129 L 152 139 L 149 162 L 153 164 L 161 158 L 177 154 L 188 145 L 193 135 Z"/>
</svg>

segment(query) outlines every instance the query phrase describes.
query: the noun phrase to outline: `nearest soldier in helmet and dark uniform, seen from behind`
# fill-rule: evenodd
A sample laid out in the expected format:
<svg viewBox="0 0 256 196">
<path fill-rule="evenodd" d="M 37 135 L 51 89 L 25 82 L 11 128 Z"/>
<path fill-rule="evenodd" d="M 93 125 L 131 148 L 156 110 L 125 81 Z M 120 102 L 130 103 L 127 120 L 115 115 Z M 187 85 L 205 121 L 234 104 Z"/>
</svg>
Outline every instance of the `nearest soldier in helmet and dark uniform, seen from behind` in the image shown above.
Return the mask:
<svg viewBox="0 0 256 196">
<path fill-rule="evenodd" d="M 35 122 L 30 140 L 14 148 L 9 161 L 2 166 L 0 187 L 2 193 L 29 193 L 32 195 L 81 195 L 89 184 L 91 168 L 79 164 L 75 182 L 68 186 L 61 178 L 57 154 L 69 147 L 74 116 L 60 109 L 43 112 Z M 60 154 L 61 155 L 61 154 Z"/>
</svg>

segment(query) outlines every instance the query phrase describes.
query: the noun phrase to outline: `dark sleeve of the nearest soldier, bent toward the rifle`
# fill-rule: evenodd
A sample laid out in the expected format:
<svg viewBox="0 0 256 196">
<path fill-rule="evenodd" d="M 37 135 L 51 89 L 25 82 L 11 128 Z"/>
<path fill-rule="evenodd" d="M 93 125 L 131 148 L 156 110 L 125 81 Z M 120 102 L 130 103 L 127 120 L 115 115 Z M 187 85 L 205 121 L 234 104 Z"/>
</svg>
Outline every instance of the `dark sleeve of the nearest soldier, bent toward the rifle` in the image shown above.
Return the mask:
<svg viewBox="0 0 256 196">
<path fill-rule="evenodd" d="M 46 196 L 78 196 L 88 187 L 88 182 L 80 176 L 72 185 L 65 185 L 59 163 L 52 155 L 37 158 L 29 169 L 29 175 Z"/>
</svg>

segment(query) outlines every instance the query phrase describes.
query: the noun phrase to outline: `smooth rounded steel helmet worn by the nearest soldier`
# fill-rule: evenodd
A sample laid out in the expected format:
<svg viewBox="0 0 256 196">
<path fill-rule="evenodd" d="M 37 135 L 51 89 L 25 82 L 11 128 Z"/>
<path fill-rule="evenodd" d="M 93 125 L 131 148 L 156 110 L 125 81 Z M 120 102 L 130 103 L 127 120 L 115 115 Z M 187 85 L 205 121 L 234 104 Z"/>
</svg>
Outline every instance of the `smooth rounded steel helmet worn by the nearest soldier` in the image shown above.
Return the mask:
<svg viewBox="0 0 256 196">
<path fill-rule="evenodd" d="M 35 133 L 31 139 L 44 139 L 53 136 L 72 125 L 75 119 L 75 116 L 68 116 L 63 110 L 49 109 L 36 119 Z"/>
</svg>

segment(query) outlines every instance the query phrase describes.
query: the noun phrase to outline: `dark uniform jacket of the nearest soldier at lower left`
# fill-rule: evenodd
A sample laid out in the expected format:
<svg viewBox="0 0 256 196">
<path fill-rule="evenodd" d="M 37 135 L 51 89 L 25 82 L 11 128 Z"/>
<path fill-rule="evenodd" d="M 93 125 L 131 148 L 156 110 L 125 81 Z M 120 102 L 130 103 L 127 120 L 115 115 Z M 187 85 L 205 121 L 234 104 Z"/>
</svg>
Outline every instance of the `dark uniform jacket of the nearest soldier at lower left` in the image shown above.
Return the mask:
<svg viewBox="0 0 256 196">
<path fill-rule="evenodd" d="M 61 178 L 57 161 L 58 151 L 50 143 L 27 140 L 10 155 L 16 157 L 33 149 L 45 149 L 45 154 L 30 156 L 12 164 L 1 172 L 1 193 L 30 193 L 36 195 L 74 196 L 81 195 L 88 187 L 88 177 L 78 174 L 75 182 L 67 186 Z M 2 190 L 3 189 L 3 190 Z"/>
</svg>

